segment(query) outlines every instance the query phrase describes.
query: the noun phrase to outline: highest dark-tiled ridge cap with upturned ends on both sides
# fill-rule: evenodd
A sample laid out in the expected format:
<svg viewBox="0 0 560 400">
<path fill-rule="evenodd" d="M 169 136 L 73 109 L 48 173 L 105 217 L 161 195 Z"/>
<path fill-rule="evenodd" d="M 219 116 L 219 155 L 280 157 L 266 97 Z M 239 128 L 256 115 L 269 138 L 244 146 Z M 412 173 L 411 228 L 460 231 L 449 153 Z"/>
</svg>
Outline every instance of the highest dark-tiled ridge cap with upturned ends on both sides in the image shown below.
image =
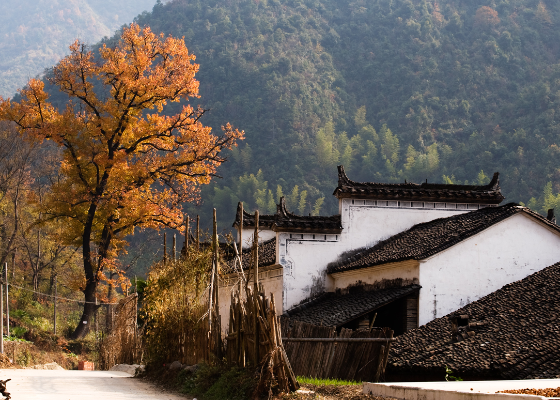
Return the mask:
<svg viewBox="0 0 560 400">
<path fill-rule="evenodd" d="M 348 179 L 344 167 L 338 167 L 338 187 L 334 195 L 379 200 L 434 201 L 454 203 L 500 204 L 504 196 L 496 172 L 488 185 L 446 185 L 436 183 L 375 183 Z"/>
</svg>

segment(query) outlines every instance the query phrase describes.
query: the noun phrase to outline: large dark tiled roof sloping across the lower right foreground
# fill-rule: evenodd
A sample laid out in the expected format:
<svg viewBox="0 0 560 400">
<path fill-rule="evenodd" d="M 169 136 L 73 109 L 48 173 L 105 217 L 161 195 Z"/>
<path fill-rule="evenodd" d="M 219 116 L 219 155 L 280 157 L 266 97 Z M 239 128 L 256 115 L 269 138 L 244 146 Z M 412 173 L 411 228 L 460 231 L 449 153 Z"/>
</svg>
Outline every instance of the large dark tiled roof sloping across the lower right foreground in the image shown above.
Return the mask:
<svg viewBox="0 0 560 400">
<path fill-rule="evenodd" d="M 452 320 L 461 315 L 468 325 L 457 337 Z M 559 360 L 557 263 L 399 336 L 388 367 L 401 375 L 443 371 L 447 365 L 469 379 L 556 378 Z"/>
</svg>

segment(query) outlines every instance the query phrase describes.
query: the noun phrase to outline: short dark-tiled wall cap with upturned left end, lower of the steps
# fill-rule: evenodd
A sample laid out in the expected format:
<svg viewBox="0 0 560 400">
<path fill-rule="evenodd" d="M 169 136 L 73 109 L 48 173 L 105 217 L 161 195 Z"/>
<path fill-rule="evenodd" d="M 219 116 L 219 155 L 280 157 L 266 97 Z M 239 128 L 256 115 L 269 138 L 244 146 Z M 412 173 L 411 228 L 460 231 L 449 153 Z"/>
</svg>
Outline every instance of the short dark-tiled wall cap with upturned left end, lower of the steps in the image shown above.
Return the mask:
<svg viewBox="0 0 560 400">
<path fill-rule="evenodd" d="M 286 209 L 284 197 L 280 199 L 280 204 L 276 207 L 276 218 L 272 228 L 277 232 L 342 232 L 340 215 L 330 217 L 296 215 Z"/>
</svg>

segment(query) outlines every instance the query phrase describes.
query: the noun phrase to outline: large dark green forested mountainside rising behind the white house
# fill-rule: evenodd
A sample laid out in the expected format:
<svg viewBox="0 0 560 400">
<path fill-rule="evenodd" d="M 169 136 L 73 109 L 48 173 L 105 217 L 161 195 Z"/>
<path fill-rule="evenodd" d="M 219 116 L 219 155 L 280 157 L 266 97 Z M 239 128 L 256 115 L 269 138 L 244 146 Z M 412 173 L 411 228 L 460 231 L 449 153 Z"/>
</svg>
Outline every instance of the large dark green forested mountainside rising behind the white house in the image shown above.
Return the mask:
<svg viewBox="0 0 560 400">
<path fill-rule="evenodd" d="M 336 212 L 337 164 L 388 182 L 500 171 L 508 201 L 560 205 L 555 0 L 173 0 L 136 21 L 185 37 L 205 123 L 246 132 L 192 212 L 226 225 L 281 192 Z"/>
</svg>

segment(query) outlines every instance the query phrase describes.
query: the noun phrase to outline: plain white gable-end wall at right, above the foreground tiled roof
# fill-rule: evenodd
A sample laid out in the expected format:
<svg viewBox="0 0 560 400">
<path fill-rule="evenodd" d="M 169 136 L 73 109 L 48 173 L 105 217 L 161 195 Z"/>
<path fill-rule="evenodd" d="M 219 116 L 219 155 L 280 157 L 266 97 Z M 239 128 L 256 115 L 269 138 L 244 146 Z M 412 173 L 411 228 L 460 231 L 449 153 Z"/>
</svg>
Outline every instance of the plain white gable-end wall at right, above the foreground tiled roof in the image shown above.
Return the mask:
<svg viewBox="0 0 560 400">
<path fill-rule="evenodd" d="M 515 214 L 420 262 L 419 325 L 560 261 L 560 234 Z"/>
</svg>

